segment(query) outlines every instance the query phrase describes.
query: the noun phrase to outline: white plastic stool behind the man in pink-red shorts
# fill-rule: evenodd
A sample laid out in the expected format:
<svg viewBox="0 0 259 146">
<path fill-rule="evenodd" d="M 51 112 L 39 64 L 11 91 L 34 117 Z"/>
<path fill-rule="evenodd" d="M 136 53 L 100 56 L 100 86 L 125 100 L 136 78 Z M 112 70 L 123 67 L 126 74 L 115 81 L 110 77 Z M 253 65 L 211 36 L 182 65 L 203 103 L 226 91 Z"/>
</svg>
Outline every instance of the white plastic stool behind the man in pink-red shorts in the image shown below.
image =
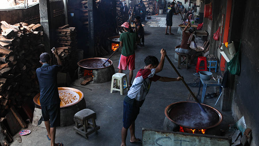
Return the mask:
<svg viewBox="0 0 259 146">
<path fill-rule="evenodd" d="M 113 85 L 114 79 L 116 79 L 115 85 Z M 123 79 L 125 79 L 125 82 L 126 82 L 125 86 L 123 85 Z M 116 88 L 114 88 L 115 86 L 116 86 Z M 120 91 L 121 95 L 123 95 L 123 91 L 125 89 L 129 90 L 126 74 L 125 73 L 115 73 L 112 78 L 111 93 L 113 92 L 113 90 L 115 90 L 115 91 Z"/>
</svg>

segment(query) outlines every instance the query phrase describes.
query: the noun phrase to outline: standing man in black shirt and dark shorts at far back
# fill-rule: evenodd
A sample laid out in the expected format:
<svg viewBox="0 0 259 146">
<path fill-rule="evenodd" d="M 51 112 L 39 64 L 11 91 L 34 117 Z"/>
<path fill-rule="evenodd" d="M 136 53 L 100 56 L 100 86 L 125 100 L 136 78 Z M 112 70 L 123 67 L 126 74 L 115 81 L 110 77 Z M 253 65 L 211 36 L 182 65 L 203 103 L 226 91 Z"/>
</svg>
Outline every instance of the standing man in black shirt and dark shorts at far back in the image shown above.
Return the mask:
<svg viewBox="0 0 259 146">
<path fill-rule="evenodd" d="M 180 14 L 180 12 L 177 12 L 177 13 L 175 12 L 174 5 L 175 5 L 175 3 L 172 2 L 170 7 L 167 8 L 165 35 L 168 35 L 168 33 L 167 33 L 168 26 L 169 26 L 169 35 L 174 35 L 173 33 L 171 33 L 171 27 L 173 25 L 172 17 L 173 17 L 173 14 L 174 15 Z"/>
</svg>

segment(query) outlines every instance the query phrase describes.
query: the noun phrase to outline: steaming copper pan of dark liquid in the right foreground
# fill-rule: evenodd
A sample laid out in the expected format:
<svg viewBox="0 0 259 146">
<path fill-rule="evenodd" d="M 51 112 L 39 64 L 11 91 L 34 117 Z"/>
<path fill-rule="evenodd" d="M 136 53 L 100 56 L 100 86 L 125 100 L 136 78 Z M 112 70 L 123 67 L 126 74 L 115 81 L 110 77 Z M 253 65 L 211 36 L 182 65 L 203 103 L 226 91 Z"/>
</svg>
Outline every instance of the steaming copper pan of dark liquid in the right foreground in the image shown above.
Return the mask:
<svg viewBox="0 0 259 146">
<path fill-rule="evenodd" d="M 202 113 L 195 102 L 182 101 L 172 103 L 165 108 L 165 116 L 177 125 L 191 129 L 209 129 L 218 126 L 222 120 L 222 114 L 208 105 L 201 104 L 207 111 Z"/>
</svg>

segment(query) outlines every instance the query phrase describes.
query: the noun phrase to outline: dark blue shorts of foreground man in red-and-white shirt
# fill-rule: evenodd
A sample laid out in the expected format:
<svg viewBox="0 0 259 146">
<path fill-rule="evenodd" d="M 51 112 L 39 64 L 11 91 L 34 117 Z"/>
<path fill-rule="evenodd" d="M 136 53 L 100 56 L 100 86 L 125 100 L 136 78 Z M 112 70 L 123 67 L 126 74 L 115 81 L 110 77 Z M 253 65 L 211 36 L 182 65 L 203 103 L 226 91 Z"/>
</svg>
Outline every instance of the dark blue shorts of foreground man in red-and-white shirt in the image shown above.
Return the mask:
<svg viewBox="0 0 259 146">
<path fill-rule="evenodd" d="M 123 101 L 123 127 L 128 129 L 139 114 L 139 107 Z"/>
</svg>

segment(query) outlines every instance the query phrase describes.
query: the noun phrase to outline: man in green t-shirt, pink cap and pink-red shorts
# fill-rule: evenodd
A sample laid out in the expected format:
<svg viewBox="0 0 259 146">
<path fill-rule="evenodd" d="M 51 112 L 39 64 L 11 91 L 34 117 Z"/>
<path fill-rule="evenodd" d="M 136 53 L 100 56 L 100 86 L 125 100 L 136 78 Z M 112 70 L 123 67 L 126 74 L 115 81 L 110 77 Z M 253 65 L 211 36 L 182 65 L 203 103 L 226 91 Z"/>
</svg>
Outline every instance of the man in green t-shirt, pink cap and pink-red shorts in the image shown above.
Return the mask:
<svg viewBox="0 0 259 146">
<path fill-rule="evenodd" d="M 121 27 L 124 28 L 125 33 L 120 36 L 121 57 L 119 61 L 119 73 L 126 70 L 129 66 L 129 87 L 133 77 L 133 70 L 135 69 L 135 48 L 136 48 L 136 33 L 134 33 L 129 25 L 129 22 L 124 22 Z"/>
</svg>

